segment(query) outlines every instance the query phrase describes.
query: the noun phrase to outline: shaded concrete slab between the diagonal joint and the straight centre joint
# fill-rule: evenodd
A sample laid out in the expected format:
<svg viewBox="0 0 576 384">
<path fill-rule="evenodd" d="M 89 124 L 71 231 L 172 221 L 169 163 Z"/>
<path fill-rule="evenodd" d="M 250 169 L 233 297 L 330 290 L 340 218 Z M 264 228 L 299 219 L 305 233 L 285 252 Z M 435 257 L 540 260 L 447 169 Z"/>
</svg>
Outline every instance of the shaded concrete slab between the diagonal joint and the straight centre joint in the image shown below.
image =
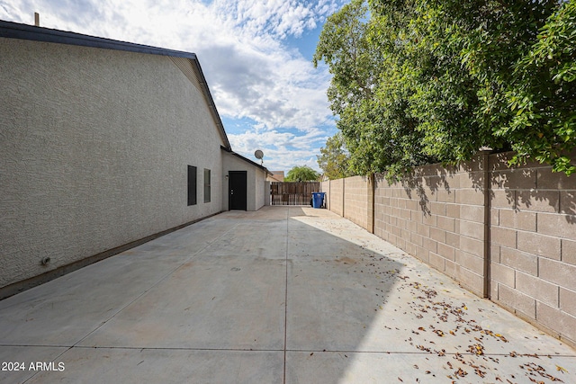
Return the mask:
<svg viewBox="0 0 576 384">
<path fill-rule="evenodd" d="M 282 351 L 285 273 L 279 260 L 195 258 L 79 345 Z"/>
</svg>

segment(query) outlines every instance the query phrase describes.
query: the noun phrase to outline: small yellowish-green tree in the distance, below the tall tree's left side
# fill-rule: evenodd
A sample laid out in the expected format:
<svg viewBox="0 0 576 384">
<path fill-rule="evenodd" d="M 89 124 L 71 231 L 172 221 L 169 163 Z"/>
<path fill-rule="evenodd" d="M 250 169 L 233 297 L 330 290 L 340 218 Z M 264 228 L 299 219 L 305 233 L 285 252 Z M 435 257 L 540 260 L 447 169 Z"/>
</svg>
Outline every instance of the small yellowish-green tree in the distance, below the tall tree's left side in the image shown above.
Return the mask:
<svg viewBox="0 0 576 384">
<path fill-rule="evenodd" d="M 316 157 L 324 176 L 330 180 L 354 175 L 348 165 L 348 154 L 341 132 L 328 138 L 326 147 L 321 147 L 320 156 Z"/>
</svg>

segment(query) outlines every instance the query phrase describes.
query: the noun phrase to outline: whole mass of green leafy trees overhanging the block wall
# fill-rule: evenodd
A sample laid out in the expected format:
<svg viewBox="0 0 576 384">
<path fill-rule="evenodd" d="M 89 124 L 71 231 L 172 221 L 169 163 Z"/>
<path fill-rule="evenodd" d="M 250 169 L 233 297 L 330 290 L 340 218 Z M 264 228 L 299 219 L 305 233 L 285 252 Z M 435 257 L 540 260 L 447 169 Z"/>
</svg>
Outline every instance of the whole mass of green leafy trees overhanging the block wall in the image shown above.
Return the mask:
<svg viewBox="0 0 576 384">
<path fill-rule="evenodd" d="M 352 169 L 403 174 L 491 147 L 571 173 L 575 1 L 353 0 L 330 16 L 313 62 L 333 75 Z"/>
</svg>

